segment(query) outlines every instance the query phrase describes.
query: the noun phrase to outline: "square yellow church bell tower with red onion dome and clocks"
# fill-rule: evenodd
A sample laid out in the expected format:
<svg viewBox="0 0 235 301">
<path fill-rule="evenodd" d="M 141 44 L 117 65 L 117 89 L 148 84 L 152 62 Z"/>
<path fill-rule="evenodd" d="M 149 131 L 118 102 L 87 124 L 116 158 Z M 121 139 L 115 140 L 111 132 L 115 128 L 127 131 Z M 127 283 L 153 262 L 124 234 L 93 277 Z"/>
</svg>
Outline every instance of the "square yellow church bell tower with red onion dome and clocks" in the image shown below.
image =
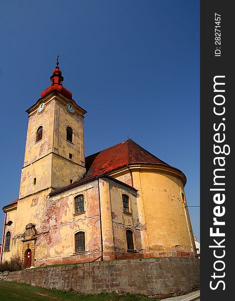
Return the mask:
<svg viewBox="0 0 235 301">
<path fill-rule="evenodd" d="M 19 199 L 45 189 L 53 191 L 78 181 L 85 173 L 83 118 L 86 111 L 62 86 L 58 67 L 50 86 L 28 113 Z"/>
</svg>

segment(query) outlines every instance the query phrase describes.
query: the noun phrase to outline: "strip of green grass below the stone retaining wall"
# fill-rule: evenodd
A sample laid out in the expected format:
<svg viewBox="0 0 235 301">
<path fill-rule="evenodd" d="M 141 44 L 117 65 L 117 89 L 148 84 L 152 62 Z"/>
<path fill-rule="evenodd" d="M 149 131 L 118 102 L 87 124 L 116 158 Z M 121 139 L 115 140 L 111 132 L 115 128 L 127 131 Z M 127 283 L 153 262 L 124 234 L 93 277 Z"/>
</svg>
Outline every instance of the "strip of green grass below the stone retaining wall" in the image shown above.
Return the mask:
<svg viewBox="0 0 235 301">
<path fill-rule="evenodd" d="M 141 294 L 130 293 L 125 293 L 123 296 L 118 296 L 115 293 L 81 295 L 75 292 L 33 287 L 23 283 L 0 281 L 0 300 L 156 301 L 157 299 L 149 299 L 147 296 Z"/>
</svg>

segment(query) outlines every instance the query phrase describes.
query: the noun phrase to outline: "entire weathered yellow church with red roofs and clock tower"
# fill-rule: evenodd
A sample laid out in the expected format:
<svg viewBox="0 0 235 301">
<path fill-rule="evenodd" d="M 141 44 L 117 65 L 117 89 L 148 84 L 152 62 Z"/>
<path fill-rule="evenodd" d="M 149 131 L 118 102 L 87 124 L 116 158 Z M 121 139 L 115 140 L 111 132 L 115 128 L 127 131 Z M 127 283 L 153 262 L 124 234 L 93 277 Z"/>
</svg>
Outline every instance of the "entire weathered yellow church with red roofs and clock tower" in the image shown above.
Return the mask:
<svg viewBox="0 0 235 301">
<path fill-rule="evenodd" d="M 196 256 L 185 175 L 128 139 L 84 156 L 86 111 L 58 67 L 29 109 L 18 199 L 5 214 L 0 260 L 23 268 Z"/>
</svg>

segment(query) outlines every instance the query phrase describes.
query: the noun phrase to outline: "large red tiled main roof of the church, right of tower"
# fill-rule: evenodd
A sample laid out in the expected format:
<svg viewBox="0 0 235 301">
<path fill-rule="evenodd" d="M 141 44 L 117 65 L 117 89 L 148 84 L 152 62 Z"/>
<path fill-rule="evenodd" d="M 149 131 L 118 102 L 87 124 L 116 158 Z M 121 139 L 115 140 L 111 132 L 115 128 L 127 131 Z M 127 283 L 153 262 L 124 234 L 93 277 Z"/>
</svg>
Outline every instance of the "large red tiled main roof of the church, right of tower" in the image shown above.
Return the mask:
<svg viewBox="0 0 235 301">
<path fill-rule="evenodd" d="M 142 163 L 168 166 L 156 158 L 132 139 L 125 140 L 119 144 L 101 150 L 96 154 L 85 158 L 86 174 L 83 179 L 107 174 L 127 164 Z"/>
</svg>

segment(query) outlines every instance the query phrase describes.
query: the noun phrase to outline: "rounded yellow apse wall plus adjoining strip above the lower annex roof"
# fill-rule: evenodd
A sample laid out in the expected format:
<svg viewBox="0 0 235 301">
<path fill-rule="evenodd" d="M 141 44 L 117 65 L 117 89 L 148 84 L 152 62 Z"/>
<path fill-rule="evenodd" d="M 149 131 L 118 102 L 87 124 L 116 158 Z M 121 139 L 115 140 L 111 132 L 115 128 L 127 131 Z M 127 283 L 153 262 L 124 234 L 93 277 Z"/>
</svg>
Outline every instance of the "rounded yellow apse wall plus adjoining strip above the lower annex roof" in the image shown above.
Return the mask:
<svg viewBox="0 0 235 301">
<path fill-rule="evenodd" d="M 144 166 L 130 166 L 130 170 L 133 187 L 138 190 L 137 210 L 144 252 L 195 252 L 181 178 L 156 172 L 154 166 L 145 171 Z M 129 176 L 118 176 L 118 173 L 113 176 L 127 184 L 130 173 L 126 173 Z"/>
</svg>

